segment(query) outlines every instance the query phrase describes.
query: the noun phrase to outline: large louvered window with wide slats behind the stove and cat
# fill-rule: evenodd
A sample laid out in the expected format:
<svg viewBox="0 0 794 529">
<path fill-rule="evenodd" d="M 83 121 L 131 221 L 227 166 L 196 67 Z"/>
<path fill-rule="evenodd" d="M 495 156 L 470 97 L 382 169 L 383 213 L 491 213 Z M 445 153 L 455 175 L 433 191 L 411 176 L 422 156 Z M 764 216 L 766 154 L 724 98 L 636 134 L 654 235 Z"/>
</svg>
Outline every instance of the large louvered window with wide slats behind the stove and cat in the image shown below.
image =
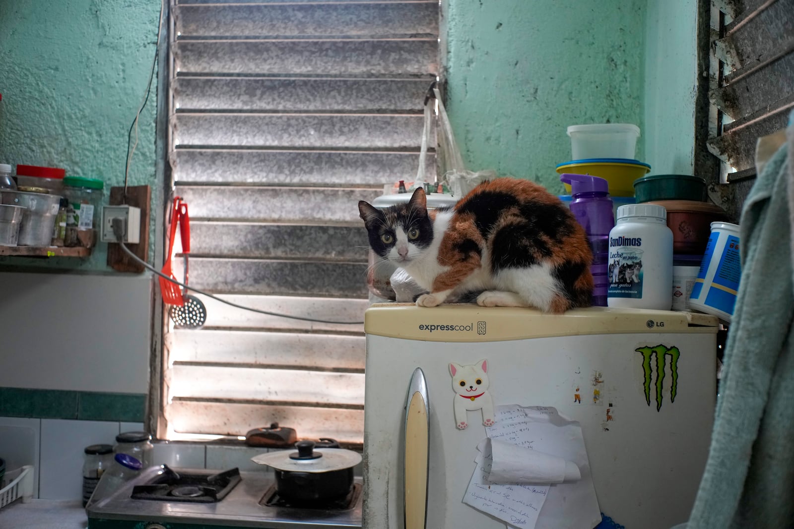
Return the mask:
<svg viewBox="0 0 794 529">
<path fill-rule="evenodd" d="M 362 320 L 357 201 L 416 173 L 437 0 L 172 0 L 170 17 L 169 158 L 190 205 L 191 284 L 257 309 Z M 361 443 L 363 326 L 201 298 L 204 328 L 165 329 L 168 437 L 278 421 Z"/>
</svg>

